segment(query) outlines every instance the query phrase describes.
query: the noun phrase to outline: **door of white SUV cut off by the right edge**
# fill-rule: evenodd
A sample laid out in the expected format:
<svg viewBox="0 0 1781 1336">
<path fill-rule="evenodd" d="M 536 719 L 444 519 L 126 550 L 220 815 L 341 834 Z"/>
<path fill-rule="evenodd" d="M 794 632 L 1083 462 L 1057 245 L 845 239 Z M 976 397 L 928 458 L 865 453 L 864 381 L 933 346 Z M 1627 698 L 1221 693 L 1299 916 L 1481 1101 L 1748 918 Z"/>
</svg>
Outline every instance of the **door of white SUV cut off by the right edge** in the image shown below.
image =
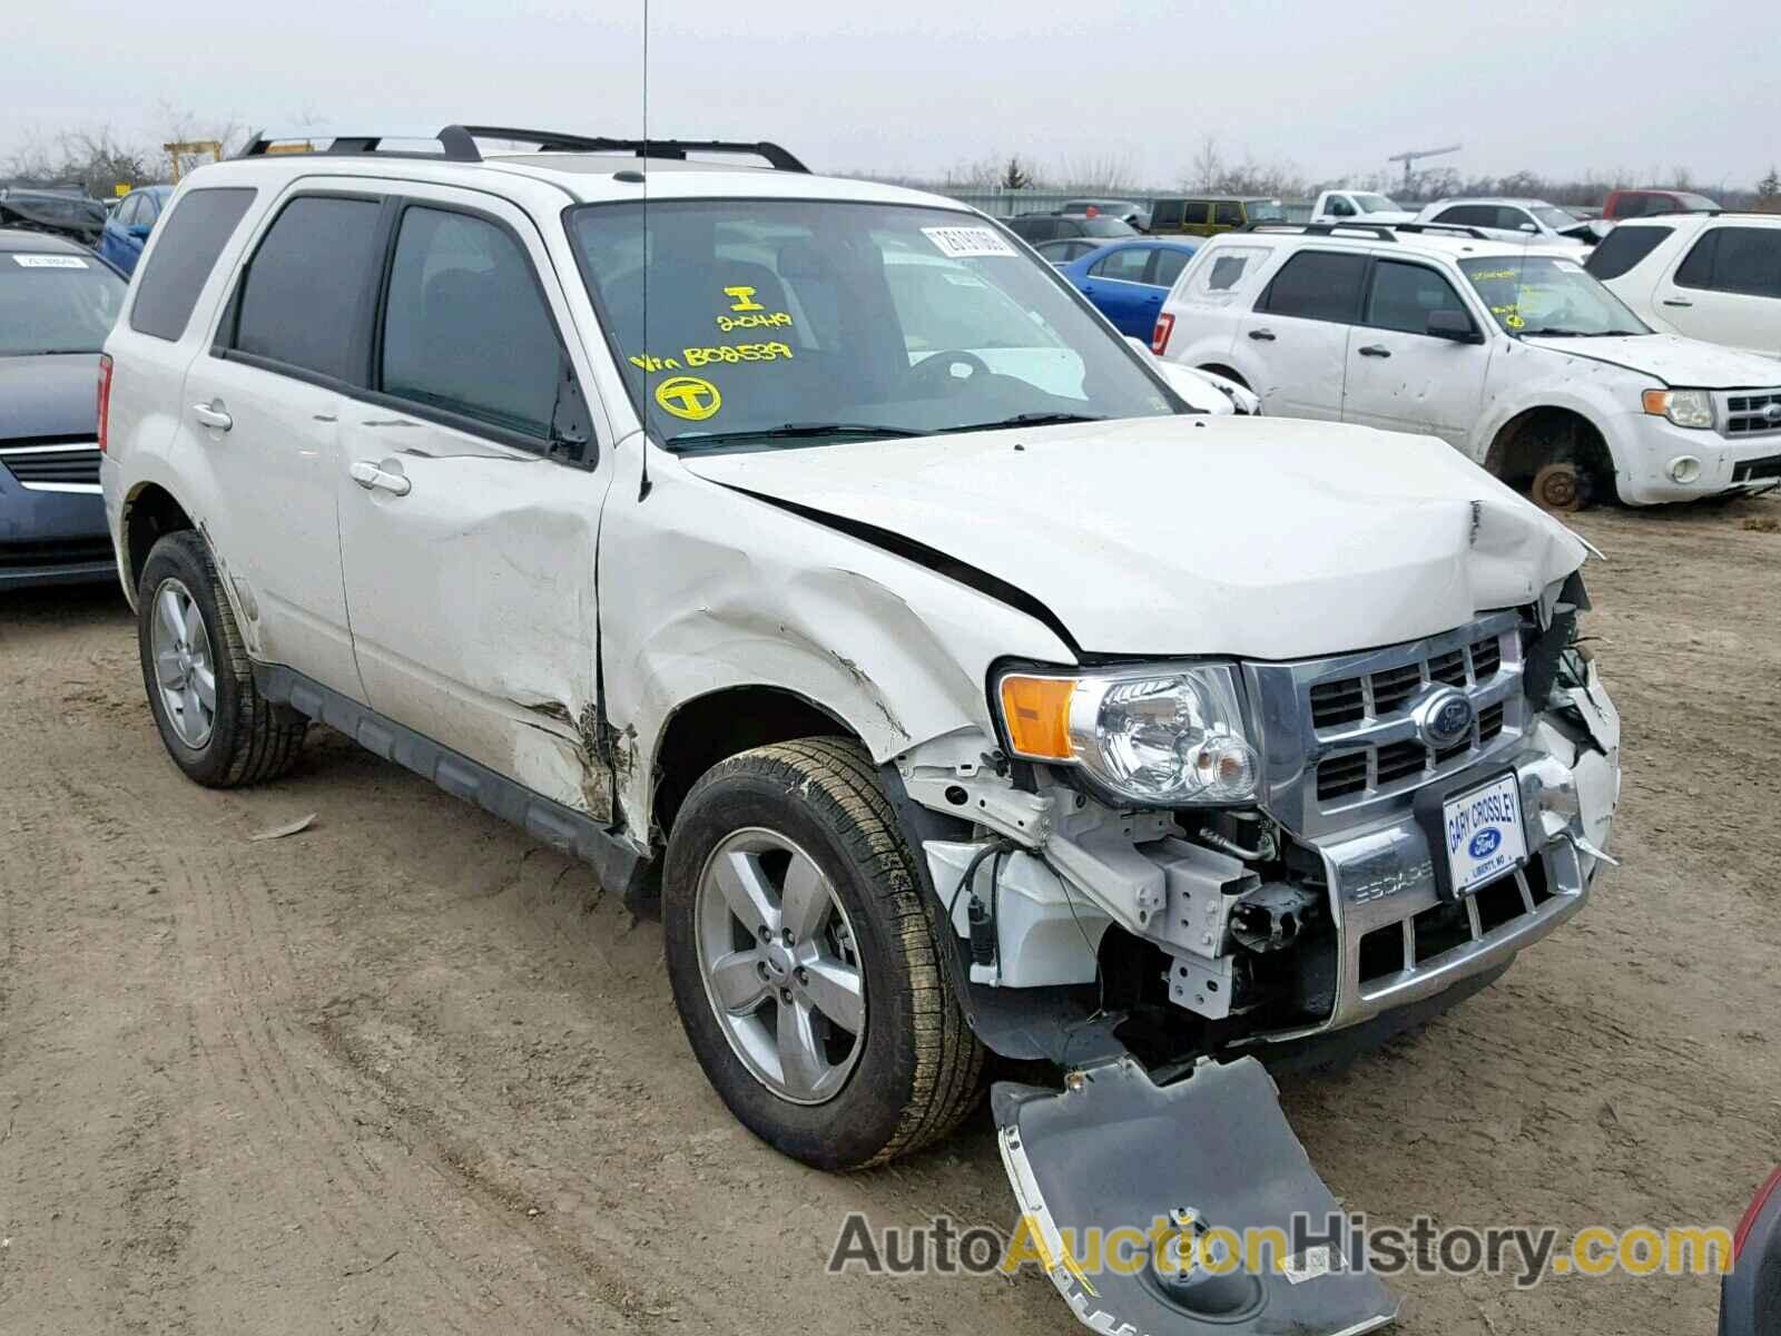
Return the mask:
<svg viewBox="0 0 1781 1336">
<path fill-rule="evenodd" d="M 1781 226 L 1704 228 L 1655 301 L 1690 338 L 1781 356 Z"/>
</svg>

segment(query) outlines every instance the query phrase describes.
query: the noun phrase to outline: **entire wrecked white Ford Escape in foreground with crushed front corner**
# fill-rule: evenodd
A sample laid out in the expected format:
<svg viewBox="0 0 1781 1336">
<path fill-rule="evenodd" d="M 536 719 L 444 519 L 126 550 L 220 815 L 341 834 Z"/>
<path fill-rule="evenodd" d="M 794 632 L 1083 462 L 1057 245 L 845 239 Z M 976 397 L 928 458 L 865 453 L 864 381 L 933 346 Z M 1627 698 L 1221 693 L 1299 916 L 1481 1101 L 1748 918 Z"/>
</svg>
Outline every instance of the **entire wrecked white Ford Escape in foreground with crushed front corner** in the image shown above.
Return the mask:
<svg viewBox="0 0 1781 1336">
<path fill-rule="evenodd" d="M 267 146 L 182 183 L 102 371 L 175 762 L 322 720 L 659 887 L 693 1051 L 807 1163 L 1056 1063 L 994 1108 L 1095 1329 L 1387 1322 L 1327 1247 L 1090 1284 L 1056 1229 L 1322 1218 L 1256 1055 L 1576 914 L 1583 543 L 1439 442 L 1193 411 L 999 224 L 771 144 Z"/>
</svg>

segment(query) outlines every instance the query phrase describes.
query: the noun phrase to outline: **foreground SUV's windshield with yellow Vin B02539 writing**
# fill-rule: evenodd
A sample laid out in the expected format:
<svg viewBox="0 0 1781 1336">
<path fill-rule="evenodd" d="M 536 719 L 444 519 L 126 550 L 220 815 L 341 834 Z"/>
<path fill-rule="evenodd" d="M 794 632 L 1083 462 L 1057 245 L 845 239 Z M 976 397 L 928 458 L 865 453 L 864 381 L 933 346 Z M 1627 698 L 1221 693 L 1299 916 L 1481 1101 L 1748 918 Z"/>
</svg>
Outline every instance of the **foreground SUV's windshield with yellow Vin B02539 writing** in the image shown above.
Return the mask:
<svg viewBox="0 0 1781 1336">
<path fill-rule="evenodd" d="M 568 224 L 670 449 L 1181 411 L 1051 265 L 971 214 L 686 200 Z"/>
</svg>

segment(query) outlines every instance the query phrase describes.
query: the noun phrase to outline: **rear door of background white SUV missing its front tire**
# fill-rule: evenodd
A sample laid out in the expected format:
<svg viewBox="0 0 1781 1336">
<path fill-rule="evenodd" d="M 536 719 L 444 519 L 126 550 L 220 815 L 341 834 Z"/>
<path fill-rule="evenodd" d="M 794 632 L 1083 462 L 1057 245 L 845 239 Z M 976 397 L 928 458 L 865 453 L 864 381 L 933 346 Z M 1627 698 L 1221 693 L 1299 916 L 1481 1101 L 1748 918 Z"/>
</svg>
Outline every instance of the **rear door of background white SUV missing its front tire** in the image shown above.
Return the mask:
<svg viewBox="0 0 1781 1336">
<path fill-rule="evenodd" d="M 1250 388 L 1268 413 L 1341 419 L 1348 333 L 1361 312 L 1366 255 L 1302 249 L 1288 257 L 1238 331 L 1257 367 Z M 1238 356 L 1232 353 L 1232 356 Z"/>
</svg>

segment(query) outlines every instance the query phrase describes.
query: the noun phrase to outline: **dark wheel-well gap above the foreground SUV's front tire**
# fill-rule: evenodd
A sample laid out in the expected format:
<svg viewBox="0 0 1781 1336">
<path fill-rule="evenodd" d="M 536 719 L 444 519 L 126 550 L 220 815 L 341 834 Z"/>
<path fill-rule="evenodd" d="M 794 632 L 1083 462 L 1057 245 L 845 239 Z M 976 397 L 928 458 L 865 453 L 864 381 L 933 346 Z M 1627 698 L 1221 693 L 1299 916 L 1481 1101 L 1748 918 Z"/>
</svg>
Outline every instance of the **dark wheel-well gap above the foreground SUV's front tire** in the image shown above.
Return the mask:
<svg viewBox="0 0 1781 1336">
<path fill-rule="evenodd" d="M 846 723 L 793 691 L 739 686 L 680 705 L 655 748 L 652 825 L 666 839 L 698 777 L 725 757 L 794 737 L 853 737 Z"/>
</svg>

